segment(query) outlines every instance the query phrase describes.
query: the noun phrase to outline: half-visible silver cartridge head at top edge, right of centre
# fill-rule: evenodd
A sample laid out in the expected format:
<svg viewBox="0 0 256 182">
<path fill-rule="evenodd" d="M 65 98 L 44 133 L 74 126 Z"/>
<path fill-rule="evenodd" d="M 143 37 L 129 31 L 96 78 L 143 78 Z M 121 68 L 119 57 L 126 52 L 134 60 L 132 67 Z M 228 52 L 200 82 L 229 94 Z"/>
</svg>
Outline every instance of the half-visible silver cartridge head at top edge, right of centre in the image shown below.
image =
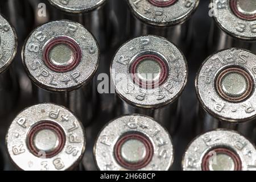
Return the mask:
<svg viewBox="0 0 256 182">
<path fill-rule="evenodd" d="M 145 23 L 154 26 L 174 26 L 190 18 L 199 5 L 199 0 L 170 0 L 166 3 L 155 0 L 127 0 L 127 3 L 131 12 Z"/>
</svg>

